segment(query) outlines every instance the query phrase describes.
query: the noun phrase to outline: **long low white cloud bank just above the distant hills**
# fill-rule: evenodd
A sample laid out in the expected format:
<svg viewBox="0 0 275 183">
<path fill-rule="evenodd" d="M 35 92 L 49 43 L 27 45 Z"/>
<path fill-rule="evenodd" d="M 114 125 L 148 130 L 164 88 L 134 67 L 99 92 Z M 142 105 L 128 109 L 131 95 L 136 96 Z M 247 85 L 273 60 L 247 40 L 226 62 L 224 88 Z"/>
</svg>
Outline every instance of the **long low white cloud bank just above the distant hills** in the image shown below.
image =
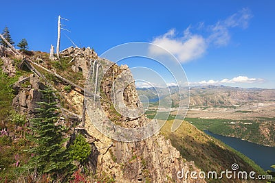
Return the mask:
<svg viewBox="0 0 275 183">
<path fill-rule="evenodd" d="M 223 80 L 209 80 L 209 81 L 201 81 L 201 82 L 190 82 L 189 85 L 195 86 L 195 85 L 219 85 L 219 84 L 236 84 L 236 83 L 261 83 L 264 82 L 262 78 L 249 78 L 247 76 L 238 76 L 233 77 L 231 80 L 225 78 Z"/>
</svg>

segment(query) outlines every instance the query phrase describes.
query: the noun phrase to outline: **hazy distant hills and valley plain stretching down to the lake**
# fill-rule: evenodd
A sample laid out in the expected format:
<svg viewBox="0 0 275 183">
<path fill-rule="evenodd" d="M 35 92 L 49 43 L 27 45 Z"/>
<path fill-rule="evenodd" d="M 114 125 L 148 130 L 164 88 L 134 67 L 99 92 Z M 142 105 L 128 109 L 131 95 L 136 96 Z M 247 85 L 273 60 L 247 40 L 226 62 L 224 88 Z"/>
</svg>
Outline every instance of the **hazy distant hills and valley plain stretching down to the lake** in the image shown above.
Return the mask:
<svg viewBox="0 0 275 183">
<path fill-rule="evenodd" d="M 156 89 L 164 103 L 172 99 L 168 108 L 177 108 L 182 100 L 188 103 L 186 92 L 179 96 L 179 88 L 169 89 L 170 95 L 167 88 Z M 157 98 L 155 88 L 137 88 L 137 93 Z M 200 130 L 275 147 L 275 89 L 194 86 L 190 87 L 189 97 L 186 120 Z M 151 102 L 147 113 L 153 117 L 157 109 L 158 102 Z"/>
</svg>

